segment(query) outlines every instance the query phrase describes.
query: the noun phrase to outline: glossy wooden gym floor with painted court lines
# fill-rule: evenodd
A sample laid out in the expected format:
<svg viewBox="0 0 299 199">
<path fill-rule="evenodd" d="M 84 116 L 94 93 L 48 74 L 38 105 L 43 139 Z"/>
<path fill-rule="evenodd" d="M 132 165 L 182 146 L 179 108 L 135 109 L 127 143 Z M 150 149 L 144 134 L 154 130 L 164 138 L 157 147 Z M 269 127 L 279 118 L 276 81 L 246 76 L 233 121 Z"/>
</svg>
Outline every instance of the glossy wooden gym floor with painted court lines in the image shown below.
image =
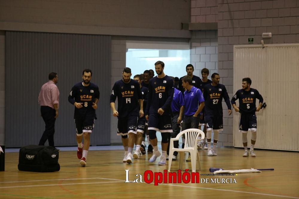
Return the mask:
<svg viewBox="0 0 299 199">
<path fill-rule="evenodd" d="M 221 148 L 218 156 L 208 157 L 199 151 L 202 171 L 210 174 L 210 167 L 226 170 L 265 169 L 274 171 L 245 173 L 237 176 L 200 176 L 210 183 L 124 183 L 125 169 L 129 181 L 144 171 L 163 172 L 166 166 L 148 163 L 144 155 L 129 165 L 122 163 L 123 151 L 89 151 L 86 167 L 81 167 L 76 151 L 60 151 L 60 171 L 51 173 L 22 172 L 17 168 L 19 153 L 5 154 L 5 171 L 0 172 L 0 198 L 299 198 L 299 153 L 255 150 L 257 157 L 242 157 L 243 149 Z M 187 154 L 185 153 L 185 159 Z M 178 169 L 179 160 L 171 170 Z M 183 169 L 191 170 L 191 163 Z M 139 178 L 139 176 L 138 176 Z M 232 178 L 236 183 L 211 183 L 210 179 Z"/>
</svg>

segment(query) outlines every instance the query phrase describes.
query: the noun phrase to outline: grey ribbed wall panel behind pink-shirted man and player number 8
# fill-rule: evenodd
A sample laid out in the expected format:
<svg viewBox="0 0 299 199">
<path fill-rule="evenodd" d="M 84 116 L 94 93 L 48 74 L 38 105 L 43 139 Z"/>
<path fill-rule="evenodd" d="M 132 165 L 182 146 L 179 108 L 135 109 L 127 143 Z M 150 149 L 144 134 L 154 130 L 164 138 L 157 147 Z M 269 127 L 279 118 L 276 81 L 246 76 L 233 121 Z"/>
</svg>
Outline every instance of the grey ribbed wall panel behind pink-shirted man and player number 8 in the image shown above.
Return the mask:
<svg viewBox="0 0 299 199">
<path fill-rule="evenodd" d="M 92 145 L 110 144 L 109 94 L 111 36 L 57 33 L 6 32 L 5 145 L 38 144 L 44 130 L 37 103 L 50 72 L 58 73 L 59 116 L 55 124 L 56 146 L 77 145 L 74 106 L 68 102 L 72 86 L 82 81 L 82 71 L 93 71 L 91 82 L 100 88 Z"/>
</svg>

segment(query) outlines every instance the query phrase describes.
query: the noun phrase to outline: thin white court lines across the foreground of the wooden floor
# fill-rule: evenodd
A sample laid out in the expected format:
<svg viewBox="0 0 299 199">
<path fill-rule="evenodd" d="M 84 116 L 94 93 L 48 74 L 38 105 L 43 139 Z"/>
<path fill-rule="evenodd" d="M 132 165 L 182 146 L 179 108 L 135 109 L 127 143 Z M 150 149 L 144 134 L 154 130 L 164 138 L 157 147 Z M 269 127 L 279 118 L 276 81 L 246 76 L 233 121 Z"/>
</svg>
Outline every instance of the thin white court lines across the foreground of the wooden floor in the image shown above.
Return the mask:
<svg viewBox="0 0 299 199">
<path fill-rule="evenodd" d="M 0 187 L 3 188 L 21 188 L 21 187 L 37 187 L 37 186 L 61 186 L 61 185 L 77 185 L 77 184 L 102 184 L 102 183 L 120 183 L 124 180 L 118 179 L 111 179 L 111 178 L 102 178 L 102 177 L 94 177 L 94 178 L 71 178 L 71 179 L 56 179 L 58 180 L 86 180 L 86 179 L 102 179 L 102 180 L 113 180 L 118 182 L 91 182 L 91 183 L 67 183 L 67 184 L 46 184 L 46 185 L 27 185 L 27 186 L 7 186 L 7 187 Z M 11 181 L 11 182 L 1 182 L 1 183 L 17 183 L 17 182 L 37 182 L 37 181 L 55 181 L 53 180 L 28 180 L 28 181 Z M 153 183 L 151 183 L 153 184 Z M 176 185 L 176 184 L 159 184 L 164 186 L 178 186 L 178 187 L 185 187 L 185 188 L 194 188 L 194 189 L 207 189 L 207 190 L 215 190 L 215 191 L 225 191 L 225 192 L 237 192 L 237 193 L 246 193 L 246 194 L 256 194 L 256 195 L 267 195 L 267 196 L 275 196 L 275 197 L 283 197 L 283 198 L 298 198 L 292 196 L 284 196 L 284 195 L 274 195 L 274 194 L 264 194 L 264 193 L 257 193 L 257 192 L 244 192 L 244 191 L 235 191 L 235 190 L 227 190 L 227 189 L 215 189 L 215 188 L 208 188 L 208 187 L 197 187 L 197 186 L 186 186 L 186 185 Z M 299 198 L 298 198 L 299 199 Z"/>
</svg>

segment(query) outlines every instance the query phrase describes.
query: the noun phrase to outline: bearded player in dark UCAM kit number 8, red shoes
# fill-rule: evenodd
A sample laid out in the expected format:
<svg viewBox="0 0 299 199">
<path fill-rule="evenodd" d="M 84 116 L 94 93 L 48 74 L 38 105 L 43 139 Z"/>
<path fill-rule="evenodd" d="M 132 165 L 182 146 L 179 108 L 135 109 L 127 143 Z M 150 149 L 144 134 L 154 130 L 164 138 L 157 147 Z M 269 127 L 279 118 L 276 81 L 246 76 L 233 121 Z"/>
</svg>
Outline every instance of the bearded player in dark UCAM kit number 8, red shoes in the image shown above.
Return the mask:
<svg viewBox="0 0 299 199">
<path fill-rule="evenodd" d="M 90 82 L 92 71 L 85 69 L 82 72 L 83 82 L 73 86 L 68 101 L 75 106 L 74 119 L 77 131 L 77 157 L 82 166 L 86 166 L 86 157 L 90 145 L 90 134 L 94 127 L 94 120 L 97 119 L 95 110 L 99 101 L 99 87 Z M 82 144 L 82 135 L 84 146 Z"/>
</svg>

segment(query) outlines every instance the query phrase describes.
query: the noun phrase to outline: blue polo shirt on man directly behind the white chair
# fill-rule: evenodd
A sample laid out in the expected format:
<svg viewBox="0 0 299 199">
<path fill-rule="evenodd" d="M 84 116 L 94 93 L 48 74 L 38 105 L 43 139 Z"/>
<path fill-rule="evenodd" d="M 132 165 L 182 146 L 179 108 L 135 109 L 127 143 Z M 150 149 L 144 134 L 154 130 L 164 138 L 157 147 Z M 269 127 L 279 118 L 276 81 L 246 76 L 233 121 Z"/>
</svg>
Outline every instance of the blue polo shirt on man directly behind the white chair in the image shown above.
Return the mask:
<svg viewBox="0 0 299 199">
<path fill-rule="evenodd" d="M 194 115 L 198 109 L 198 105 L 205 101 L 202 91 L 194 86 L 192 86 L 190 91 L 187 90 L 184 92 L 184 100 L 186 116 Z"/>
</svg>

